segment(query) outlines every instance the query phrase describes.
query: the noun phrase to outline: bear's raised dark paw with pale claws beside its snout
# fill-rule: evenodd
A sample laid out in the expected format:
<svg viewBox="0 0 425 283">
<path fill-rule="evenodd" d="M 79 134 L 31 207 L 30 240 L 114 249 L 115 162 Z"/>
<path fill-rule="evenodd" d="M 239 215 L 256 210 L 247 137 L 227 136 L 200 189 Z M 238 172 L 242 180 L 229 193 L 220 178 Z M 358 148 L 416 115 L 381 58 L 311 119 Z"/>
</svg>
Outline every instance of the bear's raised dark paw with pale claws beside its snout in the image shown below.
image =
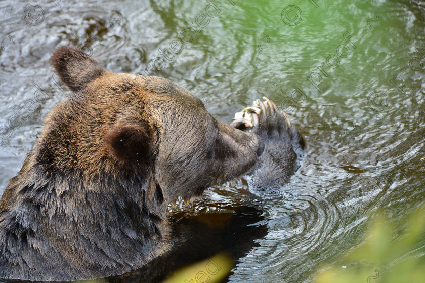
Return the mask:
<svg viewBox="0 0 425 283">
<path fill-rule="evenodd" d="M 248 180 L 251 189 L 269 193 L 280 190 L 300 167 L 304 140 L 285 112 L 267 97 L 263 100 L 236 113 L 230 125 L 257 135 L 264 143 L 264 152 L 248 173 Z"/>
</svg>

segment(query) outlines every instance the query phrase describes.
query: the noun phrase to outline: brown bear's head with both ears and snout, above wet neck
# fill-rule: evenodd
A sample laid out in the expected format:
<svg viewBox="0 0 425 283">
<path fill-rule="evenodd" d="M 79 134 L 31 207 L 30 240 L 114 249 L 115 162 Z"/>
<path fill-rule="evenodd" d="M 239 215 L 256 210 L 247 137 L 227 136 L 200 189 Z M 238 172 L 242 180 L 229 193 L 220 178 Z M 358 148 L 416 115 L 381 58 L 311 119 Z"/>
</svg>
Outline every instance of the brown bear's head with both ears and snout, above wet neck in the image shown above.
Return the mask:
<svg viewBox="0 0 425 283">
<path fill-rule="evenodd" d="M 57 49 L 51 64 L 75 94 L 47 118 L 38 159 L 46 169 L 138 174 L 169 204 L 241 176 L 262 152 L 256 135 L 220 122 L 167 79 L 105 71 L 74 47 Z"/>
</svg>

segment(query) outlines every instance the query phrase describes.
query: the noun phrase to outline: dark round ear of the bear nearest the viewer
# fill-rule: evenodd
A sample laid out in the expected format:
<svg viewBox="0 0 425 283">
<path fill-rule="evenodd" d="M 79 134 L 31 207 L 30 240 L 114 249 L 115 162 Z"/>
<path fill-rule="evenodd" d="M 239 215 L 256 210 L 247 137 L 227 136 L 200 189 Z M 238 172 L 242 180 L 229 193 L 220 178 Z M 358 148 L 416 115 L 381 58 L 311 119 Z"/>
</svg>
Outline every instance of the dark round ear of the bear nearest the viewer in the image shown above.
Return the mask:
<svg viewBox="0 0 425 283">
<path fill-rule="evenodd" d="M 149 160 L 153 140 L 151 131 L 136 125 L 115 125 L 105 134 L 109 153 L 124 163 Z"/>
</svg>

